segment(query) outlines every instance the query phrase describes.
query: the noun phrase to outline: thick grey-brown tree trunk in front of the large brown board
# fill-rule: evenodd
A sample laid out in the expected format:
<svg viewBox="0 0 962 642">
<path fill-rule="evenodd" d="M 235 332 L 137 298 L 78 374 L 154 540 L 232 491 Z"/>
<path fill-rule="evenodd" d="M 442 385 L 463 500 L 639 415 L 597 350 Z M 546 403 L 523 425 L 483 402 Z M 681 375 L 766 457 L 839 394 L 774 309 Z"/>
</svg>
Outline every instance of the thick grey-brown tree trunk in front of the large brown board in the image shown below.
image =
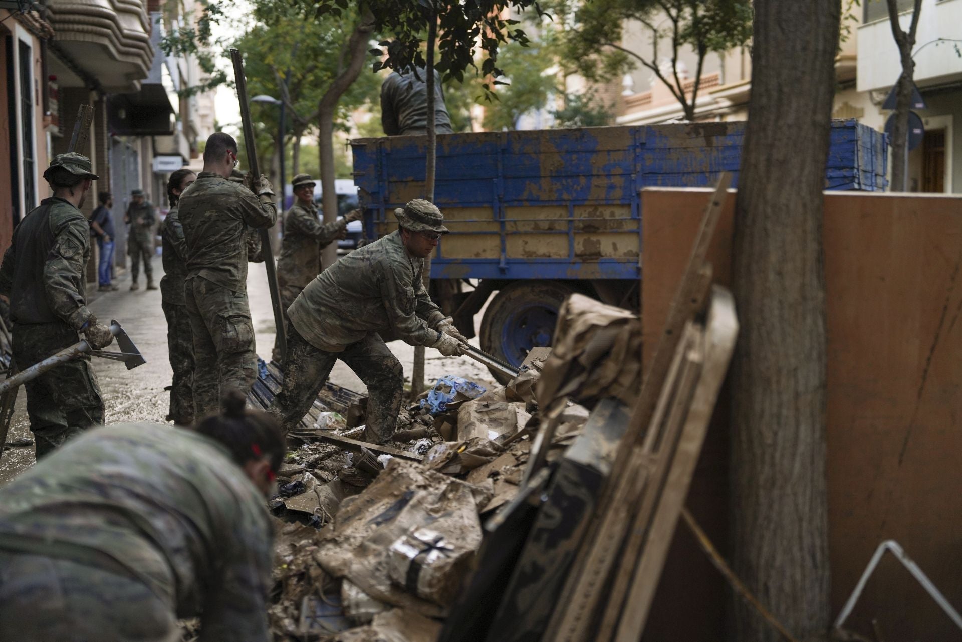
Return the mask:
<svg viewBox="0 0 962 642">
<path fill-rule="evenodd" d="M 748 588 L 808 639 L 829 618 L 822 216 L 840 3 L 754 7 L 734 244 L 733 558 Z M 776 639 L 744 603 L 735 609 L 734 639 Z"/>
</svg>

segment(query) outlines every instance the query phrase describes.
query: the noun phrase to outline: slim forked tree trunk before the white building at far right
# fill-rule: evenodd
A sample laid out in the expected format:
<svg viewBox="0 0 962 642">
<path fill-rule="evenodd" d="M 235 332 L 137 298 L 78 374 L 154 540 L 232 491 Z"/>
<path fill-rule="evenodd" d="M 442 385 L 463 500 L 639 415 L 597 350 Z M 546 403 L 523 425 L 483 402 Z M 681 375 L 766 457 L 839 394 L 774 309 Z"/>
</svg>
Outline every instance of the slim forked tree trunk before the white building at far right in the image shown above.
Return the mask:
<svg viewBox="0 0 962 642">
<path fill-rule="evenodd" d="M 912 88 L 915 78 L 915 61 L 912 48 L 915 46 L 915 33 L 922 11 L 922 0 L 916 0 L 911 23 L 906 33 L 899 23 L 899 10 L 896 0 L 888 1 L 889 24 L 892 37 L 899 47 L 902 72 L 896 87 L 895 122 L 892 123 L 892 184 L 889 192 L 908 191 L 908 112 L 912 106 Z"/>
</svg>

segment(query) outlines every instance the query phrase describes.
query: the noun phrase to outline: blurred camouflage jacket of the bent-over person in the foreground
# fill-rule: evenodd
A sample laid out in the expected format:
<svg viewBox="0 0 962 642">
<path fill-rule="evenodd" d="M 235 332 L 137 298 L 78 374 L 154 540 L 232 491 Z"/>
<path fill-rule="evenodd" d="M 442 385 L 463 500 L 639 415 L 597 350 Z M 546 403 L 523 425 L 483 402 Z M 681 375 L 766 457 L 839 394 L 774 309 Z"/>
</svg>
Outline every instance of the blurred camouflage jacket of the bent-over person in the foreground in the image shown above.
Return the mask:
<svg viewBox="0 0 962 642">
<path fill-rule="evenodd" d="M 271 526 L 220 444 L 165 424 L 95 428 L 0 494 L 0 550 L 139 578 L 202 639 L 265 642 Z"/>
</svg>

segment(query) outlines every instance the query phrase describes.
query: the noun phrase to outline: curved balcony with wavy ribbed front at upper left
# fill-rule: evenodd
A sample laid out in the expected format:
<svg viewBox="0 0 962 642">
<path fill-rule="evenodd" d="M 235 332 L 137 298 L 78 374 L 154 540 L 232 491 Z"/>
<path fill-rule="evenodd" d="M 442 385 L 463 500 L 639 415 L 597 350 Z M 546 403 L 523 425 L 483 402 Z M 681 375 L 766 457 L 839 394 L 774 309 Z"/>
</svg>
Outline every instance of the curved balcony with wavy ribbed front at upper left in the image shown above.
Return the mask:
<svg viewBox="0 0 962 642">
<path fill-rule="evenodd" d="M 140 0 L 47 0 L 54 46 L 108 92 L 139 90 L 154 50 Z"/>
</svg>

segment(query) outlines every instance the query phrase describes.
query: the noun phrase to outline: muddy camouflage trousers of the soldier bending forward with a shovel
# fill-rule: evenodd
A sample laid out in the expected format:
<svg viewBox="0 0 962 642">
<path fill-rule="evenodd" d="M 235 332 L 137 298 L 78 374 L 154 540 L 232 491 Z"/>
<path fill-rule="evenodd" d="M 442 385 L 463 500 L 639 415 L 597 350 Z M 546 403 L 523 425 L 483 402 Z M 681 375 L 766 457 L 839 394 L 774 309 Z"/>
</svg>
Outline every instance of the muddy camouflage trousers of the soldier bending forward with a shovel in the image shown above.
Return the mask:
<svg viewBox="0 0 962 642">
<path fill-rule="evenodd" d="M 375 332 L 345 347 L 327 352 L 309 344 L 288 323 L 288 353 L 284 358 L 284 385 L 267 412 L 281 422 L 285 432 L 304 419 L 335 362 L 341 359 L 367 386 L 365 439 L 383 444 L 394 434 L 404 394 L 404 369 Z"/>
</svg>

